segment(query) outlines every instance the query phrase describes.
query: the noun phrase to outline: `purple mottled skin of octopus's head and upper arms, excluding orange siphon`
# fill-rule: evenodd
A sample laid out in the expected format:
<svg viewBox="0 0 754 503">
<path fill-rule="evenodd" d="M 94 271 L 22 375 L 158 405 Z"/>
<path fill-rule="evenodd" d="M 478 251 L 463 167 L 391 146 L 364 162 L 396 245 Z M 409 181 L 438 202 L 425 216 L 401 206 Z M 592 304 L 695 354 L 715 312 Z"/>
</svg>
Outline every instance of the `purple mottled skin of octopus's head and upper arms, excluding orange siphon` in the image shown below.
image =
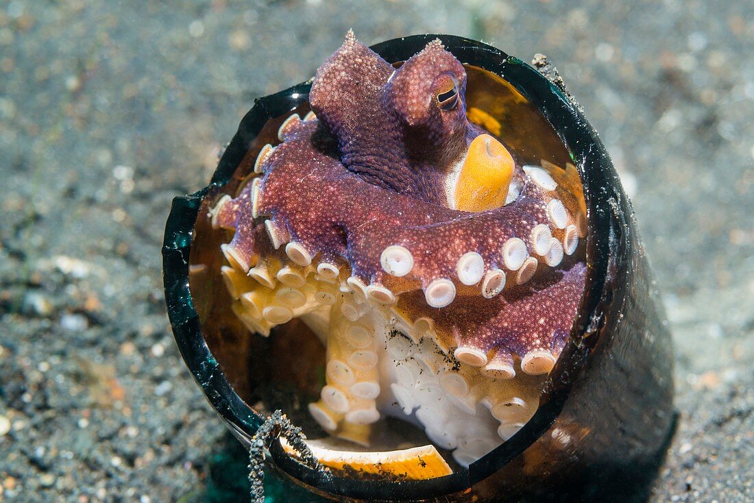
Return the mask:
<svg viewBox="0 0 754 503">
<path fill-rule="evenodd" d="M 228 246 L 242 268 L 265 256 L 287 263 L 284 246 L 274 249 L 268 237 L 269 228 L 281 229 L 282 245 L 301 245 L 314 265 L 329 262 L 366 285 L 386 287 L 398 308 L 433 319 L 446 347 L 557 357 L 586 266 L 573 250 L 548 265 L 532 231 L 547 225 L 562 247 L 580 215 L 568 202 L 571 193 L 543 189 L 520 167 L 523 189 L 504 207 L 467 213 L 447 206 L 445 177 L 481 131 L 467 121 L 465 84 L 463 66 L 439 41 L 394 69 L 349 35 L 317 71 L 310 95 L 316 118 L 284 127 L 282 143 L 262 159 L 256 218 L 253 183 L 216 211 L 217 225 L 235 230 Z M 568 228 L 548 216 L 554 199 L 567 205 Z M 522 284 L 521 271 L 504 259 L 503 244 L 512 238 L 536 259 L 536 274 Z M 406 275 L 381 266 L 381 254 L 392 246 L 412 254 Z M 461 284 L 458 260 L 469 252 L 482 257 L 486 273 L 504 272 L 499 294 L 486 298 L 481 282 Z M 452 281 L 457 292 L 443 308 L 430 307 L 422 295 L 438 278 Z"/>
</svg>

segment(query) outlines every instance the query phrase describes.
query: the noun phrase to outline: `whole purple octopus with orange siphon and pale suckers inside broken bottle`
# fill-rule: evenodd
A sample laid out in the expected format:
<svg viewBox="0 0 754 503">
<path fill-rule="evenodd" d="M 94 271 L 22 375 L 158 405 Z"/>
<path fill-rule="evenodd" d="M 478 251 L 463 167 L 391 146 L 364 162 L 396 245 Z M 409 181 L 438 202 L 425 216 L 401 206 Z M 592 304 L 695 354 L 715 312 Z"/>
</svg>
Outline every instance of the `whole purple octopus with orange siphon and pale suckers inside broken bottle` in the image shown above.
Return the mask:
<svg viewBox="0 0 754 503">
<path fill-rule="evenodd" d="M 262 336 L 298 317 L 325 345 L 308 406 L 323 430 L 368 445 L 399 417 L 463 467 L 538 408 L 587 231 L 575 167 L 522 165 L 469 120 L 465 90 L 439 40 L 396 68 L 349 32 L 317 69 L 311 112 L 210 211 L 232 235 L 234 313 Z"/>
</svg>

